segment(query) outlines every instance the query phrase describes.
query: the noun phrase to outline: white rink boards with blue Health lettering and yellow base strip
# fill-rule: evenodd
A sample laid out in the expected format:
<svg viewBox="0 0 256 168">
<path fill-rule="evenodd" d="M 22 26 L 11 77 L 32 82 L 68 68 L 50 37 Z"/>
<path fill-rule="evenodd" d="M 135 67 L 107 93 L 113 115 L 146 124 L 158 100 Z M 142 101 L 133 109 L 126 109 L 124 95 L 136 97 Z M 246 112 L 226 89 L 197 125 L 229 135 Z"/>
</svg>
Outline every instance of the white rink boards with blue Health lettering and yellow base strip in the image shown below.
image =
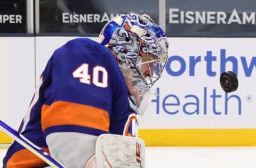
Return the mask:
<svg viewBox="0 0 256 168">
<path fill-rule="evenodd" d="M 18 128 L 48 58 L 72 38 L 0 38 L 1 120 Z M 170 57 L 154 87 L 157 96 L 139 117 L 139 136 L 146 145 L 256 145 L 255 40 L 169 38 Z M 229 94 L 219 85 L 220 73 L 227 70 L 239 80 L 238 90 Z M 0 132 L 0 143 L 11 141 Z"/>
</svg>

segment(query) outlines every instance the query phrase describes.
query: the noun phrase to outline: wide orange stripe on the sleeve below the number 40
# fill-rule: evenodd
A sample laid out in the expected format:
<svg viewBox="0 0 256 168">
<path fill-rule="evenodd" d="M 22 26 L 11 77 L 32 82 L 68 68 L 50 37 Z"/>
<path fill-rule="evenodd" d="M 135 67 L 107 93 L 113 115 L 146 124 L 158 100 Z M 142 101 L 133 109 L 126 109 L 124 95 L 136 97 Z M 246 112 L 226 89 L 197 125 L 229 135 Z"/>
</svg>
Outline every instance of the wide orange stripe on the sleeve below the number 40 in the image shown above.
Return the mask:
<svg viewBox="0 0 256 168">
<path fill-rule="evenodd" d="M 70 102 L 54 102 L 42 107 L 42 128 L 79 125 L 109 131 L 108 112 L 97 107 Z"/>
</svg>

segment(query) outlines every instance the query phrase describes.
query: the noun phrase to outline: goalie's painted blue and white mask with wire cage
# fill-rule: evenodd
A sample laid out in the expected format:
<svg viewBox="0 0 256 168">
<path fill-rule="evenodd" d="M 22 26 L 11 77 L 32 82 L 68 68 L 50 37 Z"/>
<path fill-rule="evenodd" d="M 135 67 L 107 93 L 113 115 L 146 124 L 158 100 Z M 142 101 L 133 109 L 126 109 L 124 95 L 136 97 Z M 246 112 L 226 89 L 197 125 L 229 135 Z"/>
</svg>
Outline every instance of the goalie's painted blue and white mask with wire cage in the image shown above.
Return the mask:
<svg viewBox="0 0 256 168">
<path fill-rule="evenodd" d="M 146 14 L 116 16 L 102 29 L 99 40 L 116 57 L 130 91 L 132 109 L 145 113 L 167 61 L 168 41 L 164 31 Z"/>
</svg>

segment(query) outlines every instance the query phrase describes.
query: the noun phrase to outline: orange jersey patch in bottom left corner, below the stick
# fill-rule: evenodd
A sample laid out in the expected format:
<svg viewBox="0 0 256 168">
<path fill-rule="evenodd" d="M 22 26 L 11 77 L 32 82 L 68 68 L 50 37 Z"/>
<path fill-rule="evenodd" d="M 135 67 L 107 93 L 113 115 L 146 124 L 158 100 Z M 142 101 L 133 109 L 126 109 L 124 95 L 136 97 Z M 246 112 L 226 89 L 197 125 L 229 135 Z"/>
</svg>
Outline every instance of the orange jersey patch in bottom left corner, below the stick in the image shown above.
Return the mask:
<svg viewBox="0 0 256 168">
<path fill-rule="evenodd" d="M 42 149 L 49 153 L 48 148 Z M 7 168 L 28 168 L 43 166 L 47 166 L 47 164 L 41 158 L 31 153 L 28 149 L 22 149 L 14 153 L 6 164 Z"/>
</svg>

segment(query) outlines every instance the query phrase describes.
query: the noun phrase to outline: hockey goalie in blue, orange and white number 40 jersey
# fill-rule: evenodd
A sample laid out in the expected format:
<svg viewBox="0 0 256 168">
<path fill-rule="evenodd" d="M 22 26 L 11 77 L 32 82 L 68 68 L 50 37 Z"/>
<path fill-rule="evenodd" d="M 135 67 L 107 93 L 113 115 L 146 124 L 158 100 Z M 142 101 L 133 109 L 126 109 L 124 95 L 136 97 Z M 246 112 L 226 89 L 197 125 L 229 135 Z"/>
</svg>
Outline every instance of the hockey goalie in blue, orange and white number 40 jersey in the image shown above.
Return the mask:
<svg viewBox="0 0 256 168">
<path fill-rule="evenodd" d="M 68 168 L 145 167 L 137 115 L 155 96 L 167 51 L 146 14 L 116 16 L 99 41 L 68 41 L 47 62 L 18 132 Z M 17 141 L 3 160 L 4 168 L 47 166 Z"/>
</svg>

